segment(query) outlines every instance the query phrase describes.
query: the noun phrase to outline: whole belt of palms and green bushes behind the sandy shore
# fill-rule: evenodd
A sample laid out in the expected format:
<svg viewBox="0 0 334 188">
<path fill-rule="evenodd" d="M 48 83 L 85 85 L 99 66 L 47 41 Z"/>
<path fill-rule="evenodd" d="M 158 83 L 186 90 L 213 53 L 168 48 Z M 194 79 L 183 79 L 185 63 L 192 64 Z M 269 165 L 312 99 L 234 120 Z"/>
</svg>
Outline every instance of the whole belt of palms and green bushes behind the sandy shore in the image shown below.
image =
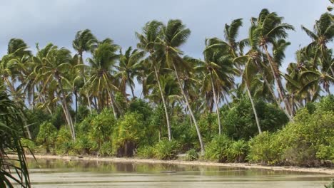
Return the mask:
<svg viewBox="0 0 334 188">
<path fill-rule="evenodd" d="M 268 9 L 249 28 L 235 19 L 223 38 L 206 38 L 203 59 L 182 51 L 191 30 L 178 19 L 148 21 L 136 48 L 125 50 L 88 29 L 76 33 L 75 54 L 12 38 L 0 61 L 2 184 L 20 181 L 6 172 L 6 153 L 18 152 L 26 170 L 21 137 L 31 150 L 57 155 L 333 164 L 330 11 L 313 29 L 302 26 L 309 44 L 286 70 L 295 28 Z"/>
</svg>

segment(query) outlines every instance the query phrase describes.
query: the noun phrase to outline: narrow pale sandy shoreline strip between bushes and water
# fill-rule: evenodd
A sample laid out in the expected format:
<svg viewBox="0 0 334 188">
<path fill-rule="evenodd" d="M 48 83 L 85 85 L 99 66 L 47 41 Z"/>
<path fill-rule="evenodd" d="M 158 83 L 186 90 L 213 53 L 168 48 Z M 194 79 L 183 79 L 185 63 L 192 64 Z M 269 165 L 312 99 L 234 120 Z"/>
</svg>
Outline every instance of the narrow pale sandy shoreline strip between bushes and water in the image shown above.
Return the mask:
<svg viewBox="0 0 334 188">
<path fill-rule="evenodd" d="M 15 156 L 15 155 L 14 155 Z M 318 174 L 334 175 L 334 168 L 315 168 L 315 167 L 295 167 L 295 166 L 263 166 L 249 163 L 219 163 L 203 161 L 183 161 L 183 160 L 155 160 L 155 159 L 138 159 L 138 158 L 118 158 L 118 157 L 92 157 L 92 156 L 61 156 L 61 155 L 26 155 L 26 158 L 46 159 L 46 160 L 83 160 L 83 161 L 102 161 L 102 162 L 124 162 L 124 163 L 146 163 L 146 164 L 178 164 L 192 166 L 213 166 L 213 167 L 240 167 L 244 169 L 269 169 L 273 171 L 288 172 L 309 172 Z"/>
</svg>

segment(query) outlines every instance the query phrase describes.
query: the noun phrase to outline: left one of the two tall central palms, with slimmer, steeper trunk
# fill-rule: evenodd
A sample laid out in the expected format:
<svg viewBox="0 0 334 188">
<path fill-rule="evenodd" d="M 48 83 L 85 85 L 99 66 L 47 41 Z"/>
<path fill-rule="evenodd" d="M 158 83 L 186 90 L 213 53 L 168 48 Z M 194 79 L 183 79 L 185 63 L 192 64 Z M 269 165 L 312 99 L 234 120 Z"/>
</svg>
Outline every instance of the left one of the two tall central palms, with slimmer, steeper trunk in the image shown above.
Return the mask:
<svg viewBox="0 0 334 188">
<path fill-rule="evenodd" d="M 171 141 L 171 122 L 169 120 L 166 100 L 165 96 L 163 95 L 163 89 L 160 83 L 160 66 L 162 60 L 159 60 L 159 58 L 161 58 L 161 51 L 158 51 L 156 48 L 156 42 L 158 40 L 158 37 L 161 36 L 162 26 L 163 23 L 161 23 L 160 21 L 149 21 L 143 27 L 143 33 L 136 33 L 136 37 L 139 40 L 137 47 L 150 54 L 146 62 L 149 66 L 151 66 L 151 68 L 153 68 L 152 72 L 154 73 L 156 82 L 158 83 L 158 88 L 160 90 L 163 108 L 166 115 L 168 140 Z"/>
</svg>

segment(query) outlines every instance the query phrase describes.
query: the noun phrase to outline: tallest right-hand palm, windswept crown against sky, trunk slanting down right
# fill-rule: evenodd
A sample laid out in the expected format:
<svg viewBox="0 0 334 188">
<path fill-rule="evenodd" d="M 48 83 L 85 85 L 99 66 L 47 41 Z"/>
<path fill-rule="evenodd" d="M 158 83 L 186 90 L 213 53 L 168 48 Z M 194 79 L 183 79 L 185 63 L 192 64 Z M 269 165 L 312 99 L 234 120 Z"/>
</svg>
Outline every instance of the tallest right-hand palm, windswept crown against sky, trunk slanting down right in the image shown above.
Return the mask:
<svg viewBox="0 0 334 188">
<path fill-rule="evenodd" d="M 270 13 L 267 9 L 260 11 L 258 18 L 252 18 L 252 25 L 256 27 L 255 32 L 258 33 L 258 45 L 263 48 L 265 55 L 267 56 L 269 67 L 273 78 L 277 85 L 278 95 L 280 100 L 285 105 L 285 109 L 291 116 L 290 103 L 285 100 L 285 89 L 280 78 L 280 62 L 275 62 L 275 60 L 270 56 L 268 52 L 268 45 L 275 43 L 277 39 L 285 39 L 288 36 L 287 30 L 294 30 L 293 26 L 288 23 L 282 23 L 283 17 L 279 17 L 275 12 Z M 292 118 L 290 117 L 290 120 Z"/>
</svg>

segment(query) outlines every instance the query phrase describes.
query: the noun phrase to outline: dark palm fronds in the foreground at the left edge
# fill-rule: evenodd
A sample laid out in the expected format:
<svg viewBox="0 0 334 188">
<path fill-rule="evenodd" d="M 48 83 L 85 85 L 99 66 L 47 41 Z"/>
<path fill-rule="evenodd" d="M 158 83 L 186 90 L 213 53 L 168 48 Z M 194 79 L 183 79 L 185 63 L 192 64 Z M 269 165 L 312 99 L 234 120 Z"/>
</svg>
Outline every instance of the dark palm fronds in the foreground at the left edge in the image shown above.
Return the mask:
<svg viewBox="0 0 334 188">
<path fill-rule="evenodd" d="M 21 135 L 24 120 L 17 107 L 0 88 L 0 187 L 30 187 Z M 13 158 L 10 155 L 16 155 Z"/>
</svg>

